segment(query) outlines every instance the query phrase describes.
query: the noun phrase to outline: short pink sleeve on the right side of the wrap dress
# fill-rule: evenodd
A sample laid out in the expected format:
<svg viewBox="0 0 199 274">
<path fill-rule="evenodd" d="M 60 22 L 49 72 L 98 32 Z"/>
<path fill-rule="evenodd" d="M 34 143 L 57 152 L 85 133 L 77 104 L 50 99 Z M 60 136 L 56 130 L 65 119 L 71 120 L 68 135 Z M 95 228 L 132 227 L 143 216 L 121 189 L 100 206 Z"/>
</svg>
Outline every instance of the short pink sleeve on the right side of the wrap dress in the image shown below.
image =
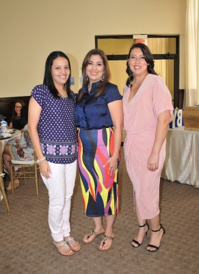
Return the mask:
<svg viewBox="0 0 199 274">
<path fill-rule="evenodd" d="M 155 116 L 158 119 L 159 114 L 165 110 L 170 110 L 171 120 L 173 114 L 172 97 L 168 87 L 165 85 L 163 79 L 159 76 L 156 77 L 157 82 L 152 91 L 152 108 Z"/>
</svg>

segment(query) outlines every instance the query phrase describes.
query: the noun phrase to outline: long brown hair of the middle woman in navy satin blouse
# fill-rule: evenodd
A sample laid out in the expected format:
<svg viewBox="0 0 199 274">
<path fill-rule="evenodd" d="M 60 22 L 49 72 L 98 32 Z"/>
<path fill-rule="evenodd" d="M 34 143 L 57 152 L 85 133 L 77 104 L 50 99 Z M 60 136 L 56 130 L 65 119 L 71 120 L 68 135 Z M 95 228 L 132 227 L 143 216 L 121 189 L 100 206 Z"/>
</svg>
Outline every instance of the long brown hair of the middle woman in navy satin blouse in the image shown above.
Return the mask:
<svg viewBox="0 0 199 274">
<path fill-rule="evenodd" d="M 104 79 L 101 81 L 101 83 L 98 85 L 98 89 L 96 92 L 96 96 L 101 95 L 104 90 L 105 86 L 107 85 L 107 82 L 109 82 L 109 79 L 111 77 L 110 69 L 109 69 L 109 63 L 107 60 L 107 56 L 101 49 L 91 49 L 86 55 L 85 58 L 83 59 L 82 67 L 81 67 L 81 72 L 82 72 L 82 78 L 83 78 L 83 83 L 82 83 L 82 88 L 88 85 L 89 79 L 87 80 L 85 78 L 85 69 L 88 66 L 88 63 L 90 61 L 91 55 L 100 55 L 102 60 L 103 60 L 103 65 L 105 66 L 105 71 L 104 71 Z M 81 92 L 82 88 L 79 90 L 80 95 L 79 95 L 79 100 L 83 97 L 83 92 Z"/>
</svg>

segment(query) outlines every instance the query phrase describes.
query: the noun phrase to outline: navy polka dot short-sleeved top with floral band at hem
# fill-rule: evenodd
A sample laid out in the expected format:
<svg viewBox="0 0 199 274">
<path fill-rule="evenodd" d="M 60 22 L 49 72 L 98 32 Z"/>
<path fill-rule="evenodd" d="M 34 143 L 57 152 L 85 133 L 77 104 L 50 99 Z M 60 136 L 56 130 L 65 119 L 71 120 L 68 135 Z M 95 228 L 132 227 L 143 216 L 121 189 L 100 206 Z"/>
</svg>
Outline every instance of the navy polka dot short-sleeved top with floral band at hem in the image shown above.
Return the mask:
<svg viewBox="0 0 199 274">
<path fill-rule="evenodd" d="M 71 164 L 77 160 L 75 93 L 71 98 L 54 98 L 45 85 L 36 86 L 31 96 L 42 108 L 38 123 L 41 148 L 49 162 Z"/>
</svg>

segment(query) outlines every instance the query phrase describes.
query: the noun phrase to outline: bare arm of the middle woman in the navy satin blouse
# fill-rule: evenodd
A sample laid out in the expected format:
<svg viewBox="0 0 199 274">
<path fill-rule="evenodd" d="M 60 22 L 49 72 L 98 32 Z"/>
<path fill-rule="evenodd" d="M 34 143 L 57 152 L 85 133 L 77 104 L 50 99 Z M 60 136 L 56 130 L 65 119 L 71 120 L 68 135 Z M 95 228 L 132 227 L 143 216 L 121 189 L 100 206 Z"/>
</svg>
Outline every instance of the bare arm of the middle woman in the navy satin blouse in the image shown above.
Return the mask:
<svg viewBox="0 0 199 274">
<path fill-rule="evenodd" d="M 122 100 L 108 103 L 111 119 L 114 123 L 114 153 L 107 160 L 105 166 L 109 164 L 109 174 L 114 173 L 118 167 L 118 155 L 120 152 L 123 130 L 123 108 Z"/>
</svg>

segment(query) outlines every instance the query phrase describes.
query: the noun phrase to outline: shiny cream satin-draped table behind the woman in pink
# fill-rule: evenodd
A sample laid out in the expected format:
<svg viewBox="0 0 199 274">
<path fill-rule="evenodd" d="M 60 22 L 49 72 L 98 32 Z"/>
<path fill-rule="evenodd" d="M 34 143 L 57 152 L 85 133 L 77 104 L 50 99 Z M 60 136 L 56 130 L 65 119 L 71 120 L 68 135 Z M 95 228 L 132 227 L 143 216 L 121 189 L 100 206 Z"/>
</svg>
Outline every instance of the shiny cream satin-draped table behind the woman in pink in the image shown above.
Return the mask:
<svg viewBox="0 0 199 274">
<path fill-rule="evenodd" d="M 176 127 L 168 130 L 161 177 L 199 188 L 199 132 Z"/>
</svg>

